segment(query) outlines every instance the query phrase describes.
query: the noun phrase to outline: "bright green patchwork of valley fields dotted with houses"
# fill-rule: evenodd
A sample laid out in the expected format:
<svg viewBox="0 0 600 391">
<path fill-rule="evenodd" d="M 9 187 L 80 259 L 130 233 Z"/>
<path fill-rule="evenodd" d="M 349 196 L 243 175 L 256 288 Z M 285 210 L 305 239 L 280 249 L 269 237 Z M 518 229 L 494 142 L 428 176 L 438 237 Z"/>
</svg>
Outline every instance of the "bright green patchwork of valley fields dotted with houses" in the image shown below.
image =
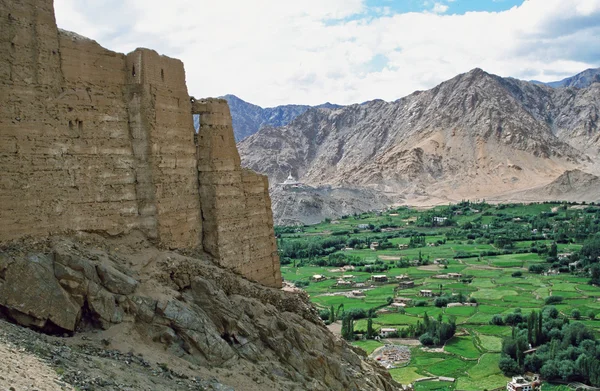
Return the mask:
<svg viewBox="0 0 600 391">
<path fill-rule="evenodd" d="M 554 261 L 554 266 L 548 261 L 553 238 L 559 235 L 557 227 L 561 230 L 572 227 L 572 232 L 579 232 L 578 221 L 589 220 L 592 221 L 589 224 L 597 225 L 600 212 L 590 215 L 582 208 L 574 209 L 560 203 L 470 205 L 460 209 L 462 214 L 459 215 L 449 214 L 448 209 L 436 207 L 417 211 L 404 207 L 380 215 L 347 216 L 314 226 L 285 230 L 278 227 L 282 275 L 286 281 L 302 286 L 322 311 L 332 306 L 340 311 L 378 311 L 373 318 L 375 330 L 413 327 L 423 323 L 425 313 L 446 322 L 453 319 L 458 335 L 447 341 L 443 349 L 433 352 L 420 346 L 412 347 L 410 363 L 390 370 L 393 378 L 403 384 L 431 376 L 456 379 L 454 383 L 418 382 L 416 390 L 475 391 L 504 387 L 508 379 L 498 369 L 498 360 L 502 338 L 511 334 L 511 328 L 491 325 L 490 321 L 494 315 L 506 316 L 514 311 L 528 315 L 532 310 L 541 309 L 549 296 L 563 298 L 555 304 L 563 316 L 570 317 L 577 309 L 582 314 L 581 321 L 600 333 L 600 288 L 588 284 L 589 275 L 571 273 L 564 268 L 562 272 L 550 275 L 530 272 L 530 267 L 543 270 L 558 267 L 558 261 Z M 428 219 L 438 214 L 448 216 L 453 224 L 428 226 Z M 596 220 L 584 220 L 588 216 L 596 216 Z M 553 219 L 557 223 L 553 223 Z M 358 229 L 359 224 L 371 224 L 373 228 Z M 392 228 L 380 232 L 378 227 L 385 226 Z M 550 228 L 538 228 L 536 233 L 535 227 Z M 597 229 L 597 226 L 587 226 L 586 232 L 597 232 L 594 231 Z M 572 253 L 581 249 L 583 239 L 575 239 L 572 232 L 566 234 L 567 237 L 573 235 L 570 242 L 554 245 L 557 252 Z M 560 231 L 560 234 L 564 236 L 564 232 Z M 409 245 L 417 236 L 422 236 L 419 246 L 398 247 Z M 499 240 L 499 237 L 510 240 Z M 373 242 L 386 244 L 387 248 L 369 249 L 368 244 Z M 568 262 L 562 261 L 561 265 Z M 354 268 L 339 270 L 343 265 Z M 436 277 L 447 273 L 460 273 L 461 276 Z M 323 275 L 327 279 L 314 282 L 314 275 Z M 359 285 L 364 296 L 349 294 L 357 289 L 355 286 L 338 287 L 337 281 L 343 275 L 351 275 L 350 280 Z M 389 281 L 371 286 L 373 275 L 386 275 Z M 407 275 L 414 287 L 400 289 L 395 281 L 399 275 Z M 439 308 L 434 304 L 435 297 L 420 297 L 419 292 L 423 289 L 431 290 L 434 295 L 461 295 L 465 300 L 475 300 L 477 306 Z M 344 292 L 350 297 L 340 295 Z M 388 306 L 388 300 L 394 297 L 412 302 L 399 310 Z M 419 302 L 420 305 L 415 306 Z M 589 319 L 590 312 L 597 315 L 596 320 Z M 354 331 L 359 335 L 366 329 L 366 319 L 354 322 Z M 382 345 L 370 340 L 353 344 L 368 353 Z M 544 386 L 544 389 L 547 387 L 550 386 Z"/>
</svg>

